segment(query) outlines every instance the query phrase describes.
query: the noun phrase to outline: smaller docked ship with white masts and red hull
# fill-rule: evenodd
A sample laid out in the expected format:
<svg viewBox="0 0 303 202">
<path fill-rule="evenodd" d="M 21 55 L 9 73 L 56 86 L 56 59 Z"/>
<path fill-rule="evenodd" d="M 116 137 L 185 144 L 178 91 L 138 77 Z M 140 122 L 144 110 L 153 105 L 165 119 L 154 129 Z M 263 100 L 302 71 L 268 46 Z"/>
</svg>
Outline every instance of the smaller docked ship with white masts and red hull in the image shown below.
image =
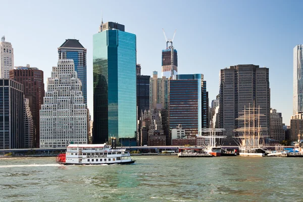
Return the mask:
<svg viewBox="0 0 303 202">
<path fill-rule="evenodd" d="M 223 144 L 223 139 L 226 136 L 217 135 L 218 133 L 222 133 L 225 129 L 224 128 L 203 128 L 201 129 L 202 134 L 208 135 L 201 135 L 198 137 L 205 138 L 203 146 L 205 147 L 205 151 L 214 156 L 220 157 L 221 156 L 221 149 Z"/>
</svg>

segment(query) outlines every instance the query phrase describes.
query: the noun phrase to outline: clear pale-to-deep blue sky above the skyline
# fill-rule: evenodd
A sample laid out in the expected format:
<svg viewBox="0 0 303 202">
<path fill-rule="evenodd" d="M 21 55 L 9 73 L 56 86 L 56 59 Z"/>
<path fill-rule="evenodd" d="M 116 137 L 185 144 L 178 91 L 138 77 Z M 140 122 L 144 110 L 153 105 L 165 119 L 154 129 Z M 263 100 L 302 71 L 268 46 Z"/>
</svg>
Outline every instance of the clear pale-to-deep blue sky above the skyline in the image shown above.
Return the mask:
<svg viewBox="0 0 303 202">
<path fill-rule="evenodd" d="M 220 69 L 237 64 L 270 70 L 271 107 L 289 125 L 293 47 L 303 43 L 302 1 L 3 1 L 0 35 L 14 48 L 15 66 L 44 71 L 57 65 L 68 38 L 87 48 L 87 99 L 92 114 L 92 35 L 101 21 L 137 35 L 137 63 L 144 75 L 161 74 L 161 50 L 177 33 L 180 74 L 202 73 L 210 102 L 219 92 Z"/>
</svg>

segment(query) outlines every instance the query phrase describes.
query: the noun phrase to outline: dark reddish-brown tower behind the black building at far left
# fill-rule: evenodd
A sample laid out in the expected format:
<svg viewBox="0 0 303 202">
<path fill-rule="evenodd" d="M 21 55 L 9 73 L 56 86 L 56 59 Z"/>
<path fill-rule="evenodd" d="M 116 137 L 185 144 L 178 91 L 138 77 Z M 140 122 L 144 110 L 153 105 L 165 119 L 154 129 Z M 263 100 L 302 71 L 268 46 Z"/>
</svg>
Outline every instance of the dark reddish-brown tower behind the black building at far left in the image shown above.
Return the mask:
<svg viewBox="0 0 303 202">
<path fill-rule="evenodd" d="M 33 118 L 33 146 L 39 148 L 40 144 L 40 109 L 45 95 L 43 71 L 30 65 L 15 67 L 10 71 L 10 78 L 22 83 L 24 96 L 29 100 L 29 108 Z"/>
</svg>

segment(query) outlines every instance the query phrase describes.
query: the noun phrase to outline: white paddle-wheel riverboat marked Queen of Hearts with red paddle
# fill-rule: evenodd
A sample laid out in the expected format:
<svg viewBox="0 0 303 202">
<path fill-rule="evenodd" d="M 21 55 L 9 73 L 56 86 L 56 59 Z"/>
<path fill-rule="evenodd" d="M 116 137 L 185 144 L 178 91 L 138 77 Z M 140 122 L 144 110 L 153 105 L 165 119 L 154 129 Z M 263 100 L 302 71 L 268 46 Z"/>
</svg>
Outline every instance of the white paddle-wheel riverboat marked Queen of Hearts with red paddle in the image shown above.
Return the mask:
<svg viewBox="0 0 303 202">
<path fill-rule="evenodd" d="M 113 144 L 112 144 L 113 145 Z M 104 144 L 70 144 L 66 154 L 60 154 L 56 163 L 61 165 L 133 164 L 125 148 Z"/>
</svg>

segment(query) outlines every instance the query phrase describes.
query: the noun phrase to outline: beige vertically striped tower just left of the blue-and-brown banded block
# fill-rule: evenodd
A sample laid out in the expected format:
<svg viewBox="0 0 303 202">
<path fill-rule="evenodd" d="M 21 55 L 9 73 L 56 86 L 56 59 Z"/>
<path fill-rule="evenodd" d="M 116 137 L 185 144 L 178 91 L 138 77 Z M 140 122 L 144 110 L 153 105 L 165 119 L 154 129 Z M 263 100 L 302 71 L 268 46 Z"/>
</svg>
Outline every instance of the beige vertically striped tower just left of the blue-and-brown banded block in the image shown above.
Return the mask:
<svg viewBox="0 0 303 202">
<path fill-rule="evenodd" d="M 158 78 L 158 72 L 153 72 L 149 80 L 149 109 L 168 109 L 168 84 L 169 79 L 163 76 Z"/>
</svg>

